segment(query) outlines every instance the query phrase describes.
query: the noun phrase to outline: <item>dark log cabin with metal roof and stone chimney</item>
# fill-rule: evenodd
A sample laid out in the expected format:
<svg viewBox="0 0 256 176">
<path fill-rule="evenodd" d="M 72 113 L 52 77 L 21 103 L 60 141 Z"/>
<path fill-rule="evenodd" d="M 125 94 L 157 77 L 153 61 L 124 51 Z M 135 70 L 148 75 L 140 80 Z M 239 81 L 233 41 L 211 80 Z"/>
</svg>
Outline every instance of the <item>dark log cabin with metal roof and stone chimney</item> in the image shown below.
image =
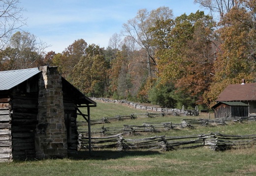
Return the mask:
<svg viewBox="0 0 256 176">
<path fill-rule="evenodd" d="M 87 107 L 90 122 L 95 106 L 57 67 L 0 72 L 0 161 L 76 153 L 78 108 Z"/>
</svg>

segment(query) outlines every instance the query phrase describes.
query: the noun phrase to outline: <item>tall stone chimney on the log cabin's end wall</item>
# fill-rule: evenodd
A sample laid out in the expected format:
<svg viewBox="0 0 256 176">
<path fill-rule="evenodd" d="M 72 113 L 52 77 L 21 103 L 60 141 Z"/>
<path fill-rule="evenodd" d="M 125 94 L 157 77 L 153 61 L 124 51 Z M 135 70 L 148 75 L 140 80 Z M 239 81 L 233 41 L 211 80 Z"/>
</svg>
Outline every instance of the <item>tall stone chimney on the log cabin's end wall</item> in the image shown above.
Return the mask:
<svg viewBox="0 0 256 176">
<path fill-rule="evenodd" d="M 38 125 L 35 134 L 36 158 L 67 157 L 62 76 L 57 67 L 42 66 L 39 79 Z"/>
</svg>

